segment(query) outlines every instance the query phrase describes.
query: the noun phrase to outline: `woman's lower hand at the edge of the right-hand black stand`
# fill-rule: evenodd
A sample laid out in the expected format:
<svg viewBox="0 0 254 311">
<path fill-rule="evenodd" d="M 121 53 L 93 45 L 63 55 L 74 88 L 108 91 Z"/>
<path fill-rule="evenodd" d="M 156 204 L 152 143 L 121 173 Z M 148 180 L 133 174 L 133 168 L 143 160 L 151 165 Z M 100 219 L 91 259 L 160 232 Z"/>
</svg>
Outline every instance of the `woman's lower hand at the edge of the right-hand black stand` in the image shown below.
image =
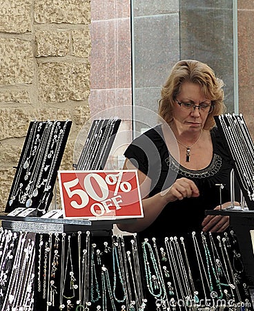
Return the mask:
<svg viewBox="0 0 254 311">
<path fill-rule="evenodd" d="M 239 202 L 234 202 L 234 205 L 240 205 Z M 226 209 L 231 206 L 231 202 L 222 204 L 222 209 Z M 221 209 L 218 205 L 215 209 Z M 202 222 L 204 232 L 224 232 L 229 226 L 229 216 L 221 215 L 208 215 Z"/>
</svg>

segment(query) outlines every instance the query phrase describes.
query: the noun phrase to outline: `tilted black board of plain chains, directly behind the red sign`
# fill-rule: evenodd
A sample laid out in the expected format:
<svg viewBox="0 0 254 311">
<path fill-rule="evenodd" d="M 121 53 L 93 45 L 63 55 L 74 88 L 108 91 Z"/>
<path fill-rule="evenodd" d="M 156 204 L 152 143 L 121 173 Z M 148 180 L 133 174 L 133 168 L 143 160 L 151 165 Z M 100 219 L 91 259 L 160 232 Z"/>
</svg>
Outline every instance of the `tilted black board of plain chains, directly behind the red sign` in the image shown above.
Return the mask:
<svg viewBox="0 0 254 311">
<path fill-rule="evenodd" d="M 93 120 L 75 169 L 104 169 L 120 123 L 117 117 Z"/>
</svg>

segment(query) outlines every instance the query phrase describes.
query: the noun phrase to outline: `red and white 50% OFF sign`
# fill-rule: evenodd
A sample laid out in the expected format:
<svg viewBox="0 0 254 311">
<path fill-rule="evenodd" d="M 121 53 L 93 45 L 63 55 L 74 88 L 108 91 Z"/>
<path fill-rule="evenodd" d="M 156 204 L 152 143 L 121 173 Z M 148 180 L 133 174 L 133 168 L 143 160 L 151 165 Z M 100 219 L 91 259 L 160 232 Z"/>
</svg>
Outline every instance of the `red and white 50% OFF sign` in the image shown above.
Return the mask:
<svg viewBox="0 0 254 311">
<path fill-rule="evenodd" d="M 59 171 L 64 218 L 144 217 L 136 170 Z"/>
</svg>

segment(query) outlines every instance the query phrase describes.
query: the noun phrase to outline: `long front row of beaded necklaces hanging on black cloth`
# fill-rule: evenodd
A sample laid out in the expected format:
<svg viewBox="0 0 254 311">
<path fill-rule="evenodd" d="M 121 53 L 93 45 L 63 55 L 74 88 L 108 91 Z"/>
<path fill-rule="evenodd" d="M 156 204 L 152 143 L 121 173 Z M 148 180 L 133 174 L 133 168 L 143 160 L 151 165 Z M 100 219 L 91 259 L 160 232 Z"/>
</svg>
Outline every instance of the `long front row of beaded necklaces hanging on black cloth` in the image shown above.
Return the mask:
<svg viewBox="0 0 254 311">
<path fill-rule="evenodd" d="M 233 231 L 141 241 L 1 229 L 0 241 L 1 311 L 253 310 Z"/>
</svg>

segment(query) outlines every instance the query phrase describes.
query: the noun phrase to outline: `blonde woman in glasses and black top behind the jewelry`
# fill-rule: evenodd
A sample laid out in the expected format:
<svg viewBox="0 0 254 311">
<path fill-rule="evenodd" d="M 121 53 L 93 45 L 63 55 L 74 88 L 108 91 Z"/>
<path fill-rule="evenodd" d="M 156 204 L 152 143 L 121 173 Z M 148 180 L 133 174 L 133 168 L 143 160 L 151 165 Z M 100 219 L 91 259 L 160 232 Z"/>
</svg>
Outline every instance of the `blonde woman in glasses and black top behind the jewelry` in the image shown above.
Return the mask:
<svg viewBox="0 0 254 311">
<path fill-rule="evenodd" d="M 222 80 L 206 64 L 175 64 L 159 101 L 164 122 L 140 135 L 124 153 L 124 169 L 138 169 L 144 218 L 119 229 L 148 237 L 228 227 L 228 217 L 204 214 L 222 202 L 227 202 L 223 208 L 231 204 L 231 158 L 213 117 L 226 111 L 222 88 Z"/>
</svg>

